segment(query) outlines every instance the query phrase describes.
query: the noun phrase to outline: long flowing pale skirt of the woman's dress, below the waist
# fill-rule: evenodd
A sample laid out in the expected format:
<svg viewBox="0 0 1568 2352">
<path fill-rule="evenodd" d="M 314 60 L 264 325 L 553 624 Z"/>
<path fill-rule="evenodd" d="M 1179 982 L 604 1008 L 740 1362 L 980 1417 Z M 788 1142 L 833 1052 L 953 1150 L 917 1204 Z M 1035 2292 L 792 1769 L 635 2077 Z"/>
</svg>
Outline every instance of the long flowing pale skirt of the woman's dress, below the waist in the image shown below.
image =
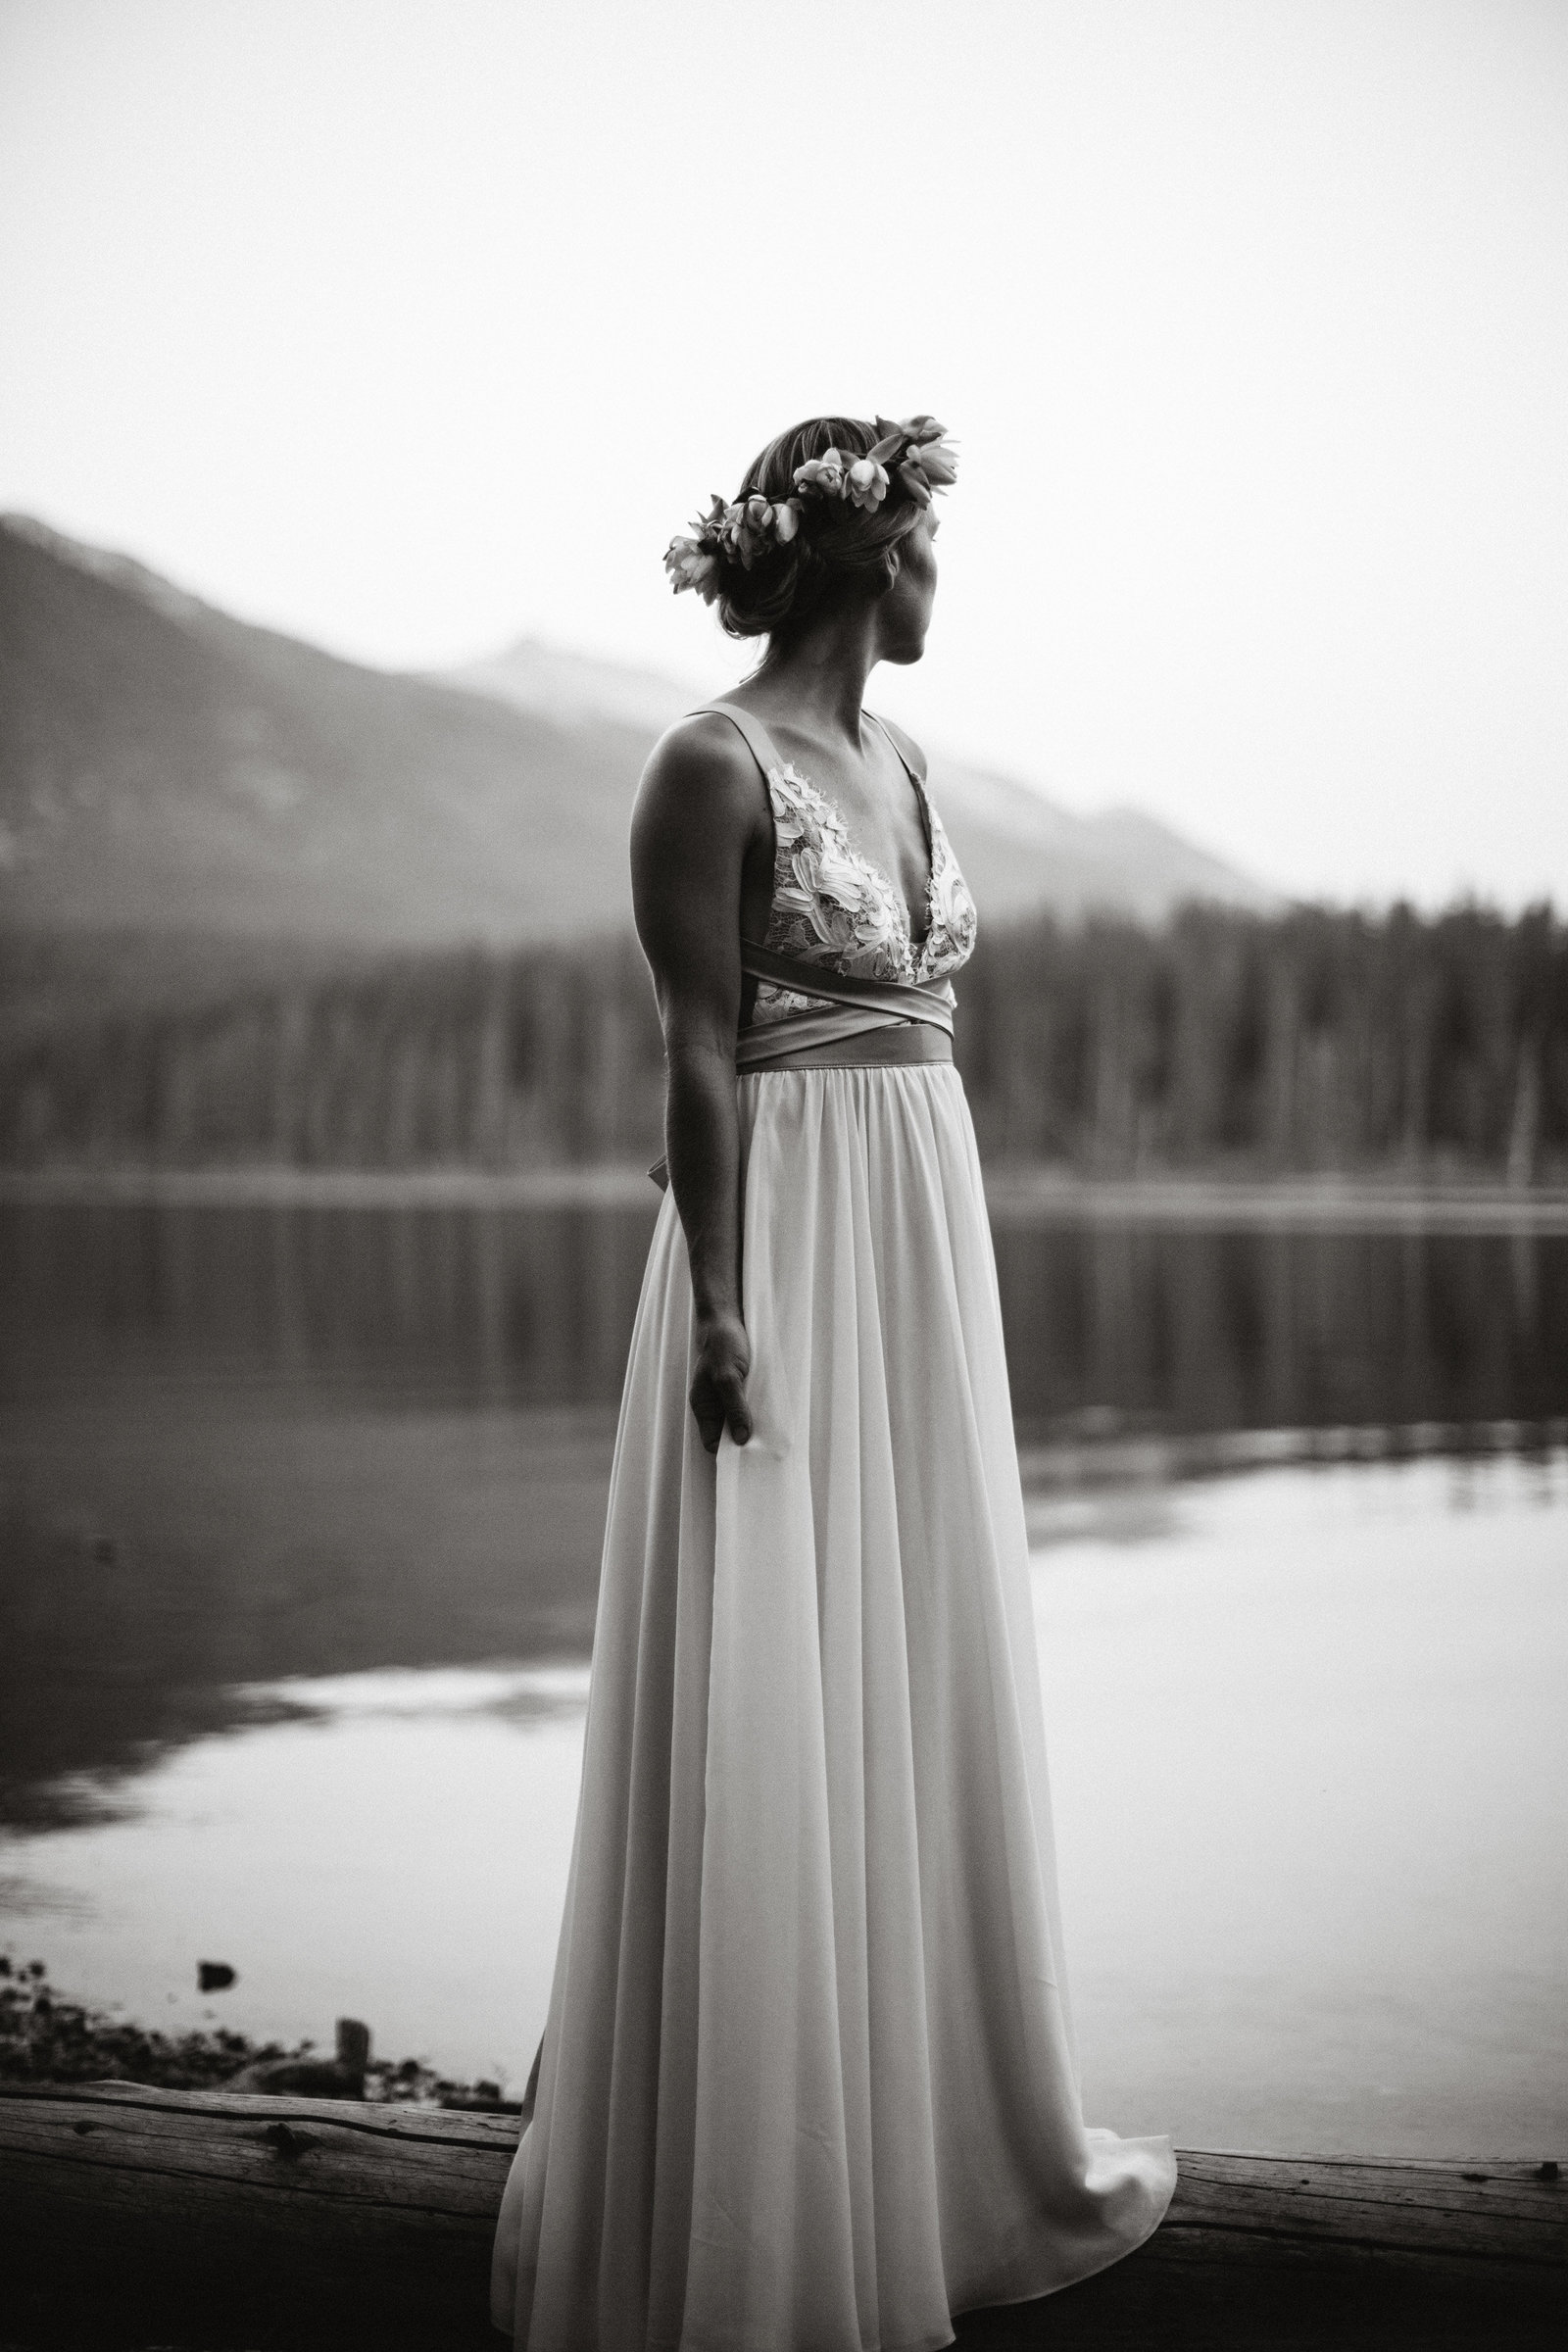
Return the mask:
<svg viewBox="0 0 1568 2352">
<path fill-rule="evenodd" d="M 738 1080 L 748 1446 L 665 1204 L 609 1498 L 527 2352 L 917 2352 L 1175 2185 L 1086 2131 L 997 1270 L 950 1063 Z"/>
</svg>

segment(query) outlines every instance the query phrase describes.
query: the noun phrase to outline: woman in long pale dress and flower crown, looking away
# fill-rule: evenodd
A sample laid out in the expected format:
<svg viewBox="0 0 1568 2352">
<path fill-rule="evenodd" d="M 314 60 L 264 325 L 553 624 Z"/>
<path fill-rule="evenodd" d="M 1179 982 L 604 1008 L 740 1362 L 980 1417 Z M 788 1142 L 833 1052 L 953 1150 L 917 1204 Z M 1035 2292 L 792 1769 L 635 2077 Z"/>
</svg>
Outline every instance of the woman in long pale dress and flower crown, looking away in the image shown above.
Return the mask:
<svg viewBox="0 0 1568 2352">
<path fill-rule="evenodd" d="M 726 703 L 649 760 L 668 1181 L 609 1498 L 536 2105 L 496 2237 L 529 2352 L 917 2352 L 1161 2220 L 1086 2131 L 1018 1458 L 924 762 L 943 428 L 818 416 L 665 557 Z M 663 1167 L 661 1171 L 663 1174 Z"/>
</svg>

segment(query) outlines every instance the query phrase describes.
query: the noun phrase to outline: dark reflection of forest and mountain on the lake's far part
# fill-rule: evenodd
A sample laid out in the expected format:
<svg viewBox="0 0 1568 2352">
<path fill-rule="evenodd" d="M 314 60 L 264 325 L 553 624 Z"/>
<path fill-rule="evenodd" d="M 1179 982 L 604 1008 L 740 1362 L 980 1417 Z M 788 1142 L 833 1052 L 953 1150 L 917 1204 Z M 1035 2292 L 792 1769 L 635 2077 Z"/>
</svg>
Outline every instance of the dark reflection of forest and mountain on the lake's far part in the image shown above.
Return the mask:
<svg viewBox="0 0 1568 2352">
<path fill-rule="evenodd" d="M 651 1221 L 0 1209 L 0 1820 L 120 1804 L 301 1677 L 581 1663 Z M 1039 1223 L 997 1261 L 1032 1446 L 1566 1409 L 1568 1235 Z"/>
</svg>

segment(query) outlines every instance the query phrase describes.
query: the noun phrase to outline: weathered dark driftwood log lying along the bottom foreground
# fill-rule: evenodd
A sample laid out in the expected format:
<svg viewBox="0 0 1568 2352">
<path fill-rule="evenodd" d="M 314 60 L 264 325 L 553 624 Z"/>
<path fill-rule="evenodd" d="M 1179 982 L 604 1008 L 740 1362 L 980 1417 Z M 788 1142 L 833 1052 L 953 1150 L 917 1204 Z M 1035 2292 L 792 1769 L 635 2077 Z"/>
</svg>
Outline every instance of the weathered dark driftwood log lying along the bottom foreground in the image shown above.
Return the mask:
<svg viewBox="0 0 1568 2352">
<path fill-rule="evenodd" d="M 515 2117 L 324 2098 L 0 2096 L 0 2347 L 494 2347 L 489 2241 Z M 961 2352 L 1568 2343 L 1552 2161 L 1180 2157 L 1166 2225 Z"/>
</svg>

